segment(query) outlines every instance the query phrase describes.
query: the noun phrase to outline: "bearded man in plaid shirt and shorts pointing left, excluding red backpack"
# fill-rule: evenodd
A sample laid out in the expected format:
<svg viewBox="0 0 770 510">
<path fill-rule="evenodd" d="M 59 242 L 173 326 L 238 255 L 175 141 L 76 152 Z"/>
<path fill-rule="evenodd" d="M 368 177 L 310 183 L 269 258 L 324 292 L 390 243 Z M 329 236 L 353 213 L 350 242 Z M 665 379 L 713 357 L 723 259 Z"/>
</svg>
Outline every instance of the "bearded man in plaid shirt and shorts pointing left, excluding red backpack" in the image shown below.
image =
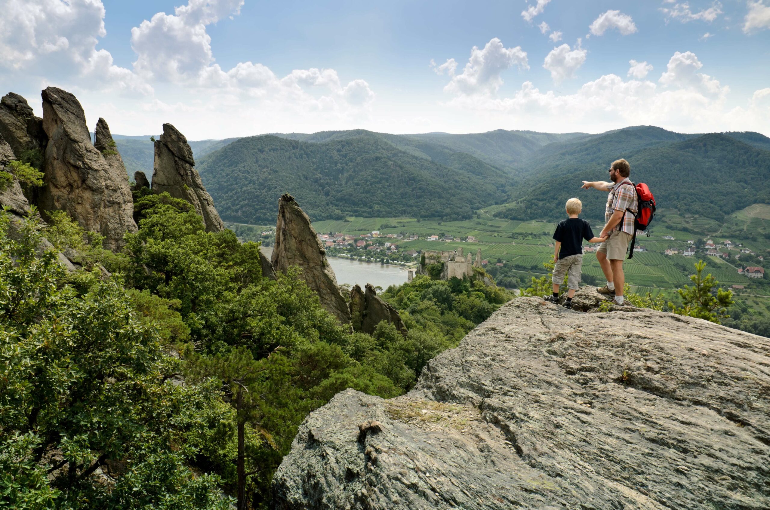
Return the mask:
<svg viewBox="0 0 770 510">
<path fill-rule="evenodd" d="M 596 259 L 601 265 L 604 276 L 607 277 L 607 285 L 601 287 L 601 294 L 614 296 L 614 304 L 623 304 L 623 285 L 625 275 L 623 273 L 623 260 L 628 242 L 634 235 L 634 214 L 638 210 L 638 201 L 634 184 L 628 180 L 631 175 L 631 166 L 625 159 L 618 159 L 610 166 L 611 183 L 603 181 L 583 181 L 582 188 L 595 188 L 607 191 L 607 206 L 604 209 L 604 221 L 606 224 L 599 237 L 608 237 L 599 245 L 596 251 Z M 631 212 L 633 212 L 633 214 Z"/>
</svg>

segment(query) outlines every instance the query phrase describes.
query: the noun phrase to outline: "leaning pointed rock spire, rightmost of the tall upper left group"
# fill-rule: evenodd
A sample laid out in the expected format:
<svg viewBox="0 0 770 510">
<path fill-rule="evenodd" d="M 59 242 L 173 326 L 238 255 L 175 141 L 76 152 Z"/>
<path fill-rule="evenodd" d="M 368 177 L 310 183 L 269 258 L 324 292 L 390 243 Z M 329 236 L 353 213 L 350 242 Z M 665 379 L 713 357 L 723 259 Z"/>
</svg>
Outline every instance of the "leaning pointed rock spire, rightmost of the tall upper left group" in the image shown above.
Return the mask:
<svg viewBox="0 0 770 510">
<path fill-rule="evenodd" d="M 192 149 L 185 136 L 171 124 L 163 124 L 163 134 L 155 141 L 152 190 L 156 193 L 165 191 L 192 203 L 196 213 L 203 216 L 207 231 L 224 230 L 225 225 L 216 212 L 214 201 L 195 169 Z"/>
</svg>

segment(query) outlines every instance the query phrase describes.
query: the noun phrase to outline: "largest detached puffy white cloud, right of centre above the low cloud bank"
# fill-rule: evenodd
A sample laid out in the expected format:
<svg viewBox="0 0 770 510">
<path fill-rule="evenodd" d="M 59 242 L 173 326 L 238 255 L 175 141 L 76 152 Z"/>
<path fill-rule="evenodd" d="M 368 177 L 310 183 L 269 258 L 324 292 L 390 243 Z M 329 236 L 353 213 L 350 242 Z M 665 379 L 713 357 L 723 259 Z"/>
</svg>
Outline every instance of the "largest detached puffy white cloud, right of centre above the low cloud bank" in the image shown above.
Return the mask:
<svg viewBox="0 0 770 510">
<path fill-rule="evenodd" d="M 463 72 L 454 75 L 444 90 L 469 96 L 494 94 L 503 83 L 500 72 L 514 65 L 519 69 L 529 69 L 527 52 L 522 50 L 521 46 L 506 48 L 500 39 L 495 37 L 487 42 L 483 49 L 474 46 L 470 50 L 470 59 Z"/>
</svg>

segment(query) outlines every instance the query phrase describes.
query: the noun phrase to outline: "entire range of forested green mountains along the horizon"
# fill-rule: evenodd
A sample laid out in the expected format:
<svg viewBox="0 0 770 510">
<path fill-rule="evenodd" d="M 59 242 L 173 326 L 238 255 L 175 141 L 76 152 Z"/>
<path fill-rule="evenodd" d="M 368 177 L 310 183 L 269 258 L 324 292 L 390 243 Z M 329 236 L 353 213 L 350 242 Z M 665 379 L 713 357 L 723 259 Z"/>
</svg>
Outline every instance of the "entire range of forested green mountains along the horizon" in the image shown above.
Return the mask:
<svg viewBox="0 0 770 510">
<path fill-rule="evenodd" d="M 604 198 L 585 193 L 579 184 L 606 179 L 610 163 L 621 157 L 631 162 L 633 180 L 654 186 L 662 207 L 719 220 L 768 200 L 762 184 L 768 166 L 760 155 L 770 150 L 770 138 L 752 132 L 685 134 L 630 126 L 598 134 L 497 129 L 393 135 L 350 129 L 246 139 L 257 138 L 262 141 L 254 147 L 233 148 L 243 140 L 239 138 L 189 142 L 203 182 L 214 186 L 209 192 L 227 220 L 272 223 L 277 197 L 284 192 L 296 196 L 313 220 L 399 215 L 460 219 L 500 203 L 506 204 L 497 210 L 500 217 L 555 219 L 570 196 L 581 197 L 585 214 L 601 219 Z M 149 139 L 115 139 L 129 175 L 141 169 L 151 176 Z M 300 146 L 281 144 L 280 139 Z M 694 140 L 701 140 L 700 149 L 687 144 Z M 758 181 L 749 188 L 753 195 L 738 190 L 738 176 L 744 173 L 739 164 L 757 169 L 748 170 Z M 676 169 L 693 183 L 672 187 L 666 169 Z M 573 189 L 565 181 L 577 184 Z M 711 187 L 717 182 L 723 188 Z M 703 193 L 726 198 L 711 200 L 718 206 L 703 206 L 710 200 L 702 200 Z"/>
</svg>

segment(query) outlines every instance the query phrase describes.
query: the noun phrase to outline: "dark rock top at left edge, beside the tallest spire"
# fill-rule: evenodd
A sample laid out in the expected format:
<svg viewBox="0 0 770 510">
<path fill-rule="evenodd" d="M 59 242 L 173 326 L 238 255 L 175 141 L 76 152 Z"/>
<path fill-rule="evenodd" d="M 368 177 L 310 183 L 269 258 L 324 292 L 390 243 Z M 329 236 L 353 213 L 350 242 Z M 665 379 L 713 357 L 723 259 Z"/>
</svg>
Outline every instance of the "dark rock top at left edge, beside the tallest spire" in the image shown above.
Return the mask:
<svg viewBox="0 0 770 510">
<path fill-rule="evenodd" d="M 0 136 L 11 146 L 16 159 L 29 149 L 45 149 L 48 136 L 42 119 L 32 112 L 26 99 L 8 92 L 0 99 Z"/>
</svg>

